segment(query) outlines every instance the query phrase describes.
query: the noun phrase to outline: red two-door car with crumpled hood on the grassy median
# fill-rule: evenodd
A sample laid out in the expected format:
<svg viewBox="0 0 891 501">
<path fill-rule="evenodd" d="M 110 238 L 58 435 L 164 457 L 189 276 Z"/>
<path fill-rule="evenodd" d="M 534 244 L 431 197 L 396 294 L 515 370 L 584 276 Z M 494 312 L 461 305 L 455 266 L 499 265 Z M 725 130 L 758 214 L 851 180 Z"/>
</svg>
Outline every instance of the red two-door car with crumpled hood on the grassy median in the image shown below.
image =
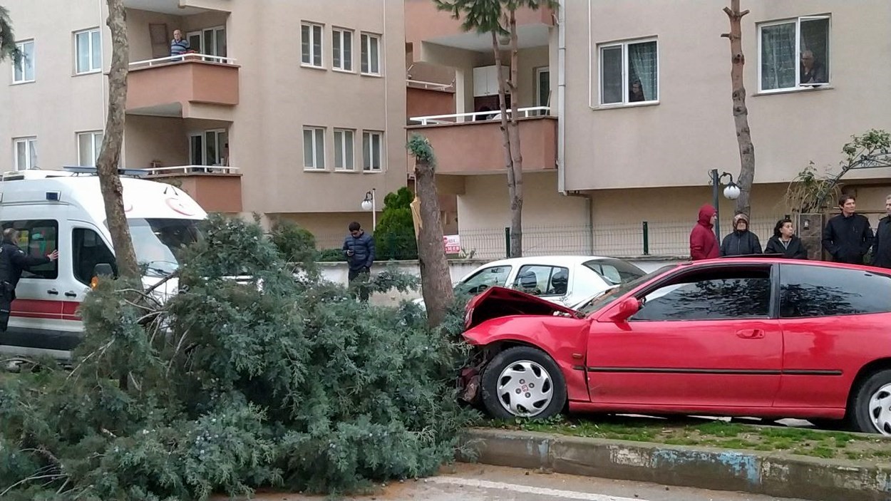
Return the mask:
<svg viewBox="0 0 891 501">
<path fill-rule="evenodd" d="M 797 417 L 891 435 L 891 270 L 710 259 L 579 310 L 493 287 L 465 327 L 462 398 L 495 417 Z"/>
</svg>

